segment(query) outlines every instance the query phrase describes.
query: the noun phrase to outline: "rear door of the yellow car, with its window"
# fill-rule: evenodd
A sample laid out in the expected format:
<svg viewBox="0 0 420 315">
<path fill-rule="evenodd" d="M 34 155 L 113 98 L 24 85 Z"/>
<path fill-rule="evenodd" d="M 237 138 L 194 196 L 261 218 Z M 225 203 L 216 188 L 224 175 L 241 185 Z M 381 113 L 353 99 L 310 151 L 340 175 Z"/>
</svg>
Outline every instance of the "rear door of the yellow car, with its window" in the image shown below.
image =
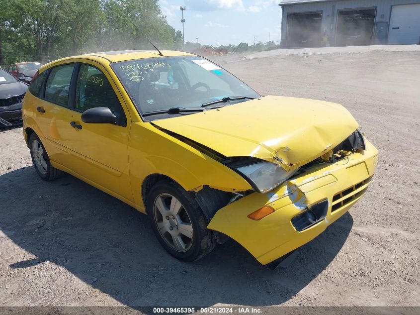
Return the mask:
<svg viewBox="0 0 420 315">
<path fill-rule="evenodd" d="M 68 121 L 73 112 L 69 108 L 69 92 L 74 68 L 75 64 L 70 63 L 42 72 L 39 76 L 46 77 L 45 89 L 39 89 L 38 98 L 28 100 L 34 103 L 35 120 L 41 131 L 39 136 L 51 161 L 62 165 L 69 163 L 67 139 L 73 131 L 68 127 Z M 40 79 L 37 82 L 42 84 L 44 79 Z"/>
</svg>

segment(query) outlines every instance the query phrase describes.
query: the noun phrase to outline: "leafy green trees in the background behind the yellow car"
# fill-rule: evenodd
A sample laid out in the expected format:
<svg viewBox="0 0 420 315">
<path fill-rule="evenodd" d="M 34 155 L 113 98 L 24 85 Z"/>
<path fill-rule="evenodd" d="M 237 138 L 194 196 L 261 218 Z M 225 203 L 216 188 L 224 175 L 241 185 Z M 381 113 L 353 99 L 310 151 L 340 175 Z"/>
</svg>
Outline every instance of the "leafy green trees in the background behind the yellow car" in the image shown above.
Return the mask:
<svg viewBox="0 0 420 315">
<path fill-rule="evenodd" d="M 182 49 L 158 0 L 0 0 L 0 63 L 91 51 Z M 13 61 L 11 61 L 13 59 Z"/>
</svg>

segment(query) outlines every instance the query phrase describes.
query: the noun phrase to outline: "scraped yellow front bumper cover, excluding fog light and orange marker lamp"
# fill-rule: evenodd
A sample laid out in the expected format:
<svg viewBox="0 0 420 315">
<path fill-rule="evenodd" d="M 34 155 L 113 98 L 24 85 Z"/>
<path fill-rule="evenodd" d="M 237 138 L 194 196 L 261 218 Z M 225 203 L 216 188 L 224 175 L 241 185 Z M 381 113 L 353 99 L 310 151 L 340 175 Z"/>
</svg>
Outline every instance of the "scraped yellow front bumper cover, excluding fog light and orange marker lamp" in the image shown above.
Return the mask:
<svg viewBox="0 0 420 315">
<path fill-rule="evenodd" d="M 366 192 L 377 161 L 377 149 L 366 140 L 362 153 L 315 167 L 268 194 L 253 193 L 218 210 L 207 228 L 235 239 L 265 265 L 314 239 L 347 212 Z M 323 200 L 328 201 L 325 218 L 298 231 L 292 218 Z M 248 218 L 265 205 L 275 211 L 258 221 Z"/>
</svg>

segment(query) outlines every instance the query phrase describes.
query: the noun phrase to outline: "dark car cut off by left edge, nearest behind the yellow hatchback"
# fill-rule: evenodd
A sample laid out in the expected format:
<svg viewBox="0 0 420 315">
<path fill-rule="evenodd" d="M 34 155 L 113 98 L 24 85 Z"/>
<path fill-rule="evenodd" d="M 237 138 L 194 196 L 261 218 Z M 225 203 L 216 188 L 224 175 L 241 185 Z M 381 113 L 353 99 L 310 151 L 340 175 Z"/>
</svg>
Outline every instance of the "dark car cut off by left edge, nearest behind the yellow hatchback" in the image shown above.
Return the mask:
<svg viewBox="0 0 420 315">
<path fill-rule="evenodd" d="M 27 90 L 26 83 L 0 68 L 0 128 L 22 124 L 22 101 Z"/>
</svg>

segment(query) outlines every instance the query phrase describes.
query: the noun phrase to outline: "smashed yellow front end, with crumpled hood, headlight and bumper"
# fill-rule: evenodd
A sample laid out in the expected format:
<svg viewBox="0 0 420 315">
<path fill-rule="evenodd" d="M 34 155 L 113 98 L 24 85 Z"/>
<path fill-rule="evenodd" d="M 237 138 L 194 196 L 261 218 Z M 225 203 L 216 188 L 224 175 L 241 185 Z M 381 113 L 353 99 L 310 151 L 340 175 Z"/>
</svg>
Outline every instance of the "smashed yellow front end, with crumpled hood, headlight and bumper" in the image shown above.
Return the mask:
<svg viewBox="0 0 420 315">
<path fill-rule="evenodd" d="M 378 151 L 333 103 L 263 97 L 153 124 L 248 182 L 247 191 L 221 178 L 190 191 L 219 242 L 235 239 L 264 265 L 322 233 L 376 169 Z"/>
</svg>

